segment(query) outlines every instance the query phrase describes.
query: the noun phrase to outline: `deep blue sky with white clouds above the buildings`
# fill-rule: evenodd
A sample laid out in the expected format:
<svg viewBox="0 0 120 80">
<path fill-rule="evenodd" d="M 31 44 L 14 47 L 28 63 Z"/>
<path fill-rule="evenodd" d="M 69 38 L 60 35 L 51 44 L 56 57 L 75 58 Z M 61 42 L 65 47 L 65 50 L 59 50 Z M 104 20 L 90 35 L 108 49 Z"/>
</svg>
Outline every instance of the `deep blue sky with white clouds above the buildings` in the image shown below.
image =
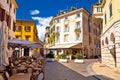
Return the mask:
<svg viewBox="0 0 120 80">
<path fill-rule="evenodd" d="M 38 36 L 44 39 L 45 27 L 59 10 L 70 9 L 71 6 L 85 8 L 90 12 L 92 4 L 98 0 L 17 0 L 17 19 L 35 20 Z"/>
</svg>

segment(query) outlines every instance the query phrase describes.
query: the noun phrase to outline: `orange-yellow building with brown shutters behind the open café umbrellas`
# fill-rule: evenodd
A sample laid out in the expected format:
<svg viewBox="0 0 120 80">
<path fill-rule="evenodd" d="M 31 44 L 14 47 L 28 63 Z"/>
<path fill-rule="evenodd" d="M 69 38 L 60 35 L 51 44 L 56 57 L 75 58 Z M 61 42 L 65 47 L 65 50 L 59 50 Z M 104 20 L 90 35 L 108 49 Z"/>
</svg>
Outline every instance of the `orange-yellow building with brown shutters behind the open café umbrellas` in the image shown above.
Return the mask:
<svg viewBox="0 0 120 80">
<path fill-rule="evenodd" d="M 16 38 L 38 42 L 43 46 L 43 43 L 38 39 L 36 23 L 30 20 L 16 20 L 15 36 Z M 40 53 L 39 49 L 34 49 L 34 52 Z M 31 56 L 28 48 L 24 48 L 24 56 Z"/>
</svg>

